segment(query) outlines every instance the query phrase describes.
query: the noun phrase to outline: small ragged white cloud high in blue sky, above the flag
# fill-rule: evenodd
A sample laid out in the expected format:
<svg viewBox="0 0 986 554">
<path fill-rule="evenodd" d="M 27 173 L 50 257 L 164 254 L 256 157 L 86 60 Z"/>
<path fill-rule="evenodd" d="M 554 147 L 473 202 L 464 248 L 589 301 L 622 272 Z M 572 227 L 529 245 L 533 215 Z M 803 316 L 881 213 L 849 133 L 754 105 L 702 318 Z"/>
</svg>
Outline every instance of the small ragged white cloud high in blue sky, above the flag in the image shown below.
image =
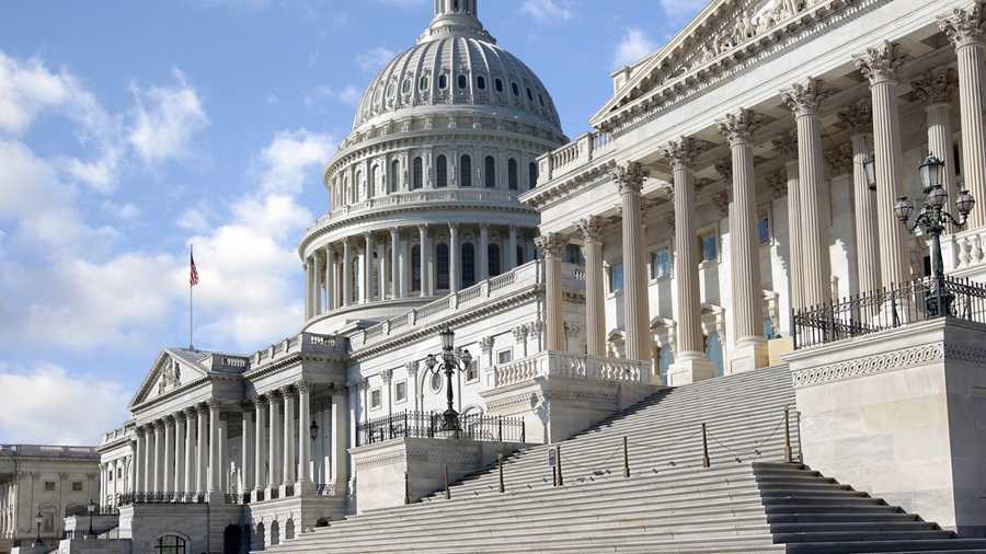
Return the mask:
<svg viewBox="0 0 986 554">
<path fill-rule="evenodd" d="M 187 157 L 192 136 L 209 125 L 195 89 L 181 70 L 173 73 L 177 81 L 173 86 L 130 85 L 137 106 L 128 139 L 149 165 Z"/>
</svg>

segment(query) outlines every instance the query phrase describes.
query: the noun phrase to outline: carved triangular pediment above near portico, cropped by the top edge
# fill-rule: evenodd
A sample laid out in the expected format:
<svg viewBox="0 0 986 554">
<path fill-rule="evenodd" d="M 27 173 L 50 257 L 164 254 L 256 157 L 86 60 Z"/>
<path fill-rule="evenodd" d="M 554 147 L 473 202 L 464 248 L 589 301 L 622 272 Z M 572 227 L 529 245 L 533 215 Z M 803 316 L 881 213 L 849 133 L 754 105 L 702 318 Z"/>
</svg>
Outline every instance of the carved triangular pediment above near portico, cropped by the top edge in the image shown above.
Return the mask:
<svg viewBox="0 0 986 554">
<path fill-rule="evenodd" d="M 655 90 L 664 89 L 735 56 L 830 0 L 712 0 L 661 49 L 612 73 L 623 81 L 589 123 L 607 127 L 616 114 L 632 109 Z M 687 86 L 688 83 L 686 82 Z"/>
</svg>

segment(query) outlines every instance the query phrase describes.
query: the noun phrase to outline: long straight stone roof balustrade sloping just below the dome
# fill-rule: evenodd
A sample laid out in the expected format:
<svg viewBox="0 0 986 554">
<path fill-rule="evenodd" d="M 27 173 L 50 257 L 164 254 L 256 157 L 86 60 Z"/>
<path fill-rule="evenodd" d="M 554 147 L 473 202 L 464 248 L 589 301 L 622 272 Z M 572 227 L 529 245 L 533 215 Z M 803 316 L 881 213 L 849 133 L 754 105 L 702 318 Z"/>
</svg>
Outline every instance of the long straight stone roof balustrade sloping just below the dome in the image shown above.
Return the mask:
<svg viewBox="0 0 986 554">
<path fill-rule="evenodd" d="M 416 310 L 391 318 L 382 323 L 367 327 L 353 337 L 353 349 L 369 346 L 405 327 L 428 325 L 454 313 L 471 309 L 491 299 L 514 293 L 515 291 L 540 282 L 541 263 L 531 261 L 514 269 L 478 282 L 472 287 L 452 292 L 429 302 Z"/>
</svg>

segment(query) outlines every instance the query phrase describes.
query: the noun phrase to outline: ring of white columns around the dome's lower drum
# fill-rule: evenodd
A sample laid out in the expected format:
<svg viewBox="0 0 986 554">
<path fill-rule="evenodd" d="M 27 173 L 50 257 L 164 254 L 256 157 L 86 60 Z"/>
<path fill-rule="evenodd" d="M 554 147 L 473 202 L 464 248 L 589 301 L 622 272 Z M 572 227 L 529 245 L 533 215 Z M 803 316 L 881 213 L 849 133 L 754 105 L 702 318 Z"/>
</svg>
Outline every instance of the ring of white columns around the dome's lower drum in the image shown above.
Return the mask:
<svg viewBox="0 0 986 554">
<path fill-rule="evenodd" d="M 444 226 L 442 226 L 444 227 Z M 448 224 L 449 268 L 448 291 L 456 292 L 461 287 L 461 261 L 459 236 L 461 232 L 459 223 Z M 477 282 L 491 277 L 489 245 L 491 226 L 478 226 L 478 244 L 475 245 L 475 280 Z M 416 228 L 416 243 L 421 245 L 419 253 L 419 266 L 421 267 L 420 284 L 417 290 L 413 290 L 411 275 L 412 261 L 411 245 L 414 234 L 404 234 L 401 228 L 391 228 L 383 240 L 377 233 L 364 233 L 356 244 L 352 239 L 337 243 L 330 243 L 308 257 L 305 263 L 306 275 L 306 319 L 312 319 L 326 312 L 344 307 L 365 304 L 389 299 L 402 299 L 417 296 L 429 298 L 437 290 L 436 277 L 438 268 L 435 261 L 435 249 L 432 244 L 439 226 L 421 224 Z M 507 272 L 518 265 L 517 258 L 518 229 L 507 226 L 506 252 L 501 253 L 501 272 Z M 362 263 L 358 269 L 354 268 L 354 257 L 362 247 Z M 387 251 L 390 251 L 390 258 Z M 387 270 L 387 263 L 390 272 Z M 377 265 L 375 268 L 374 265 Z M 376 269 L 376 270 L 375 270 Z M 379 280 L 374 286 L 374 276 Z M 359 279 L 358 298 L 353 290 L 356 279 Z M 376 292 L 374 290 L 376 289 Z"/>
</svg>

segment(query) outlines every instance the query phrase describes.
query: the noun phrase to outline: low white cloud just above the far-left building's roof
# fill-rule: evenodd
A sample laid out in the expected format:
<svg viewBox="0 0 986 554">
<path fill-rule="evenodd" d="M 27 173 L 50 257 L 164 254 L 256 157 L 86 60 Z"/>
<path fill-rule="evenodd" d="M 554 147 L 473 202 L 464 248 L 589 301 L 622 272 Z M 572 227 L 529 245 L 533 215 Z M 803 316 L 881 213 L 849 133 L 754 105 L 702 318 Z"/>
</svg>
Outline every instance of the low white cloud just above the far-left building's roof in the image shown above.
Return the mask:
<svg viewBox="0 0 986 554">
<path fill-rule="evenodd" d="M 118 384 L 58 366 L 15 369 L 0 362 L 0 442 L 98 445 L 103 432 L 127 419 L 126 397 Z"/>
</svg>

